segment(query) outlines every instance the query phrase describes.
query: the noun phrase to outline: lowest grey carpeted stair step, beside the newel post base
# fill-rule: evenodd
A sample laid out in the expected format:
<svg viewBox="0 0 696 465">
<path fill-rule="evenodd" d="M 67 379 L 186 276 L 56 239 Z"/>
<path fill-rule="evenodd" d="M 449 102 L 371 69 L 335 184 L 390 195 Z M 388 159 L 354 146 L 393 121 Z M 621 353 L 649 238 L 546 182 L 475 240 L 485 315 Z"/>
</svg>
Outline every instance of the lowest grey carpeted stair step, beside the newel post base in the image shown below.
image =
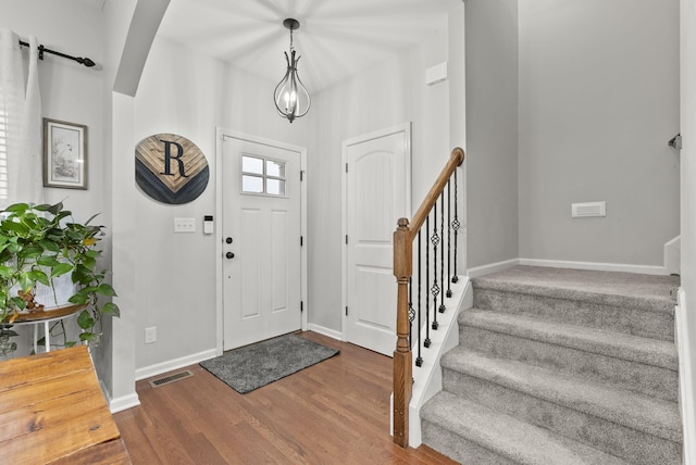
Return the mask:
<svg viewBox="0 0 696 465">
<path fill-rule="evenodd" d="M 423 442 L 463 464 L 627 464 L 450 392 L 426 403 L 422 422 Z"/>
</svg>

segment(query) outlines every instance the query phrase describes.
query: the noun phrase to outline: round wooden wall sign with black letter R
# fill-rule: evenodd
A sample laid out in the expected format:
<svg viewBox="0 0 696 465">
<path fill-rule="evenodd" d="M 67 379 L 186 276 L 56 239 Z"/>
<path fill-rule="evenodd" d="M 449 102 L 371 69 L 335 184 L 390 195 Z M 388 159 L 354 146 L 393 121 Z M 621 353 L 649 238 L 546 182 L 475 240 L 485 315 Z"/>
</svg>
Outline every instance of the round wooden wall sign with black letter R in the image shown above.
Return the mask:
<svg viewBox="0 0 696 465">
<path fill-rule="evenodd" d="M 135 180 L 152 199 L 178 204 L 195 200 L 208 186 L 206 155 L 190 140 L 156 134 L 135 148 Z"/>
</svg>

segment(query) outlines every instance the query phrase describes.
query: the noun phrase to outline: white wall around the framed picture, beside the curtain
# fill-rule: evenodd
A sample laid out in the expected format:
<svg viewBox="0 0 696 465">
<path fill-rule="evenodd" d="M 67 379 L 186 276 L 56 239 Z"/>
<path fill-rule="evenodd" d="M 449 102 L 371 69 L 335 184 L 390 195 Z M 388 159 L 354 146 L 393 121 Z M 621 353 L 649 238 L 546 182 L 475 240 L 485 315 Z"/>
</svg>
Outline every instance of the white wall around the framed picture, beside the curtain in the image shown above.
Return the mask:
<svg viewBox="0 0 696 465">
<path fill-rule="evenodd" d="M 46 202 L 63 201 L 76 221 L 86 221 L 102 213 L 96 222 L 109 226 L 104 213 L 103 154 L 103 35 L 102 14 L 97 8 L 86 8 L 79 0 L 48 2 L 40 0 L 8 0 L 0 3 L 0 27 L 14 30 L 27 41 L 36 36 L 46 48 L 74 56 L 89 56 L 97 66 L 88 68 L 72 60 L 45 54 L 39 61 L 41 115 L 87 126 L 88 189 L 46 188 Z M 24 48 L 28 62 L 28 49 Z M 109 229 L 107 229 L 109 234 Z M 109 240 L 103 248 L 109 248 Z M 108 251 L 107 251 L 108 253 Z M 71 338 L 76 339 L 76 325 L 70 325 Z M 17 329 L 20 329 L 17 327 Z M 29 353 L 33 340 L 28 327 L 21 330 L 20 348 L 11 356 Z"/>
</svg>

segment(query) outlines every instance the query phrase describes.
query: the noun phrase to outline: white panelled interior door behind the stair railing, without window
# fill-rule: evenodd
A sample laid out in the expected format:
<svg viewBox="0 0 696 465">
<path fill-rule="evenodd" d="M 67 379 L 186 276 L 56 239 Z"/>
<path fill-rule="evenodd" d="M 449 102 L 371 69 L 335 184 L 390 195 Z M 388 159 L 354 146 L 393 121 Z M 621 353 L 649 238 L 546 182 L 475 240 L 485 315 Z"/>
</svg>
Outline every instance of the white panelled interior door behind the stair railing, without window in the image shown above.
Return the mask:
<svg viewBox="0 0 696 465">
<path fill-rule="evenodd" d="M 344 142 L 345 319 L 349 342 L 391 355 L 396 348 L 393 235 L 411 208 L 410 125 Z"/>
</svg>

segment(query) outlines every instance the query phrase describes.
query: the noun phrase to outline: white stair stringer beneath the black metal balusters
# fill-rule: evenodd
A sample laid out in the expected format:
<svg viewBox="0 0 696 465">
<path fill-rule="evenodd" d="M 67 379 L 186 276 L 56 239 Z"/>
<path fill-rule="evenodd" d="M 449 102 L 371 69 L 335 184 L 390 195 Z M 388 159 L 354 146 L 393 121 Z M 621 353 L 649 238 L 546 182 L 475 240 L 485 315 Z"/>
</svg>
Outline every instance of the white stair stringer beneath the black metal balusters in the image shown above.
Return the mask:
<svg viewBox="0 0 696 465">
<path fill-rule="evenodd" d="M 421 445 L 421 407 L 425 402 L 443 390 L 442 356 L 459 344 L 459 324 L 457 317 L 467 309 L 474 305 L 474 293 L 469 276 L 460 276 L 459 282 L 451 285 L 452 297 L 448 310 L 438 313 L 439 328 L 431 330 L 431 347 L 423 349 L 423 365 L 413 364 L 413 390 L 409 403 L 409 445 Z M 453 311 L 452 311 L 453 309 Z M 421 340 L 425 338 L 425 329 L 421 330 Z M 415 362 L 415 351 L 413 352 Z M 393 395 L 394 397 L 394 395 Z M 391 409 L 394 411 L 394 409 Z"/>
</svg>

